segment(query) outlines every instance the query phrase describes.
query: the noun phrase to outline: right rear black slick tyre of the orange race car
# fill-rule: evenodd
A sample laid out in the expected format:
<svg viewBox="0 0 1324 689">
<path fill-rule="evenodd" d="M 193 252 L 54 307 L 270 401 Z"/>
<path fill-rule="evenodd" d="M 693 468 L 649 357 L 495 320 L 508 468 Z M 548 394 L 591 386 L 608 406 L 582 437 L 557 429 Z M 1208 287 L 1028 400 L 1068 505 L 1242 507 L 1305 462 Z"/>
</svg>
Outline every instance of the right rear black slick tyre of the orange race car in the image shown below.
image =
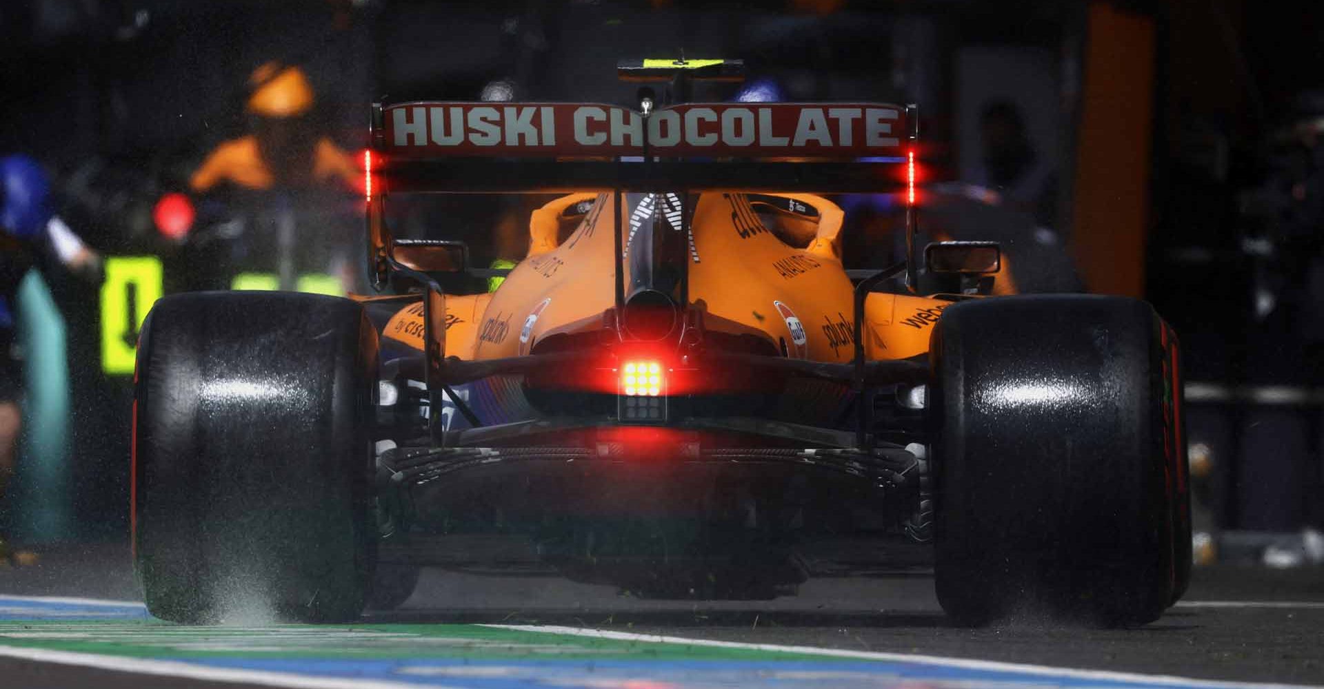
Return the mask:
<svg viewBox="0 0 1324 689">
<path fill-rule="evenodd" d="M 1111 296 L 943 312 L 929 407 L 935 583 L 957 623 L 1143 624 L 1180 595 L 1186 507 L 1173 473 L 1185 452 L 1165 328 L 1144 302 Z"/>
</svg>

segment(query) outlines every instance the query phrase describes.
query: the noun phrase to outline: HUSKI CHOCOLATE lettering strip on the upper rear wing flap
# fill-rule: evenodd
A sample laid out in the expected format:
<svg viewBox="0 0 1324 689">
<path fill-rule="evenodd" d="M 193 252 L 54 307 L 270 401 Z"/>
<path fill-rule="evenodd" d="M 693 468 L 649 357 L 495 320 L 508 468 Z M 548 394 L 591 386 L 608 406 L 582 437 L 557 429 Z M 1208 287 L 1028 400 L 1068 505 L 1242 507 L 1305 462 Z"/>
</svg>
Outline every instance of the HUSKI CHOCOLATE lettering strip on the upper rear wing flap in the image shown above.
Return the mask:
<svg viewBox="0 0 1324 689">
<path fill-rule="evenodd" d="M 424 155 L 883 155 L 902 111 L 874 103 L 690 103 L 639 112 L 589 103 L 401 103 L 387 144 Z"/>
</svg>

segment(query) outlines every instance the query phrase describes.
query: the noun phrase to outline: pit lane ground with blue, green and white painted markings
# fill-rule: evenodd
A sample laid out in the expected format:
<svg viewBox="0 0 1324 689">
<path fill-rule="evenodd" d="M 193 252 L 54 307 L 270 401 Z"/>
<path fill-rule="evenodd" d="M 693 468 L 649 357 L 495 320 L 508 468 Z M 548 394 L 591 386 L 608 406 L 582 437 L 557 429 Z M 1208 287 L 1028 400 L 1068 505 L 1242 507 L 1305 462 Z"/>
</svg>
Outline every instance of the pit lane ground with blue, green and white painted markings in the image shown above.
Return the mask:
<svg viewBox="0 0 1324 689">
<path fill-rule="evenodd" d="M 923 575 L 813 579 L 771 602 L 677 602 L 426 570 L 401 610 L 352 627 L 183 628 L 136 606 L 44 596 L 138 600 L 127 549 L 62 546 L 36 567 L 0 569 L 0 686 L 1324 686 L 1317 569 L 1198 569 L 1185 600 L 1137 629 L 956 628 Z M 176 672 L 197 663 L 211 669 Z"/>
</svg>

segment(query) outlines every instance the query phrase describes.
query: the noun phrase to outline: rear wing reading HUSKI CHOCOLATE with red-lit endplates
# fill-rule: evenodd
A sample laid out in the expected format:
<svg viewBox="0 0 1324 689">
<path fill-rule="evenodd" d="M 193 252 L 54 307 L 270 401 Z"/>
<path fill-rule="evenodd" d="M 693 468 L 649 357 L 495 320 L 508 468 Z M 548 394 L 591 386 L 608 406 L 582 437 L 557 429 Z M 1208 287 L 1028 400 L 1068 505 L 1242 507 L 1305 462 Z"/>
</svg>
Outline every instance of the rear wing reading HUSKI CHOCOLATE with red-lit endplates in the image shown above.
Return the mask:
<svg viewBox="0 0 1324 689">
<path fill-rule="evenodd" d="M 364 167 L 375 284 L 400 270 L 391 193 L 900 193 L 914 255 L 916 106 L 650 104 L 373 103 Z"/>
</svg>

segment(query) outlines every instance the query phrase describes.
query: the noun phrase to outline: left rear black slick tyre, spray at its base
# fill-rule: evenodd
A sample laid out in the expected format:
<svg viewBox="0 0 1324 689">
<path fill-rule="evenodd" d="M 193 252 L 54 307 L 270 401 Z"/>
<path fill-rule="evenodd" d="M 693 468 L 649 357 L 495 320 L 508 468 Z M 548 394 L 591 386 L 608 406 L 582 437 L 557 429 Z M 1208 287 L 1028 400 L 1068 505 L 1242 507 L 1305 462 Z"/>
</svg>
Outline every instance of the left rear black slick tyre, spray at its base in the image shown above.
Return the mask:
<svg viewBox="0 0 1324 689">
<path fill-rule="evenodd" d="M 132 524 L 148 611 L 344 622 L 375 563 L 376 331 L 347 299 L 167 296 L 138 352 Z"/>
</svg>

